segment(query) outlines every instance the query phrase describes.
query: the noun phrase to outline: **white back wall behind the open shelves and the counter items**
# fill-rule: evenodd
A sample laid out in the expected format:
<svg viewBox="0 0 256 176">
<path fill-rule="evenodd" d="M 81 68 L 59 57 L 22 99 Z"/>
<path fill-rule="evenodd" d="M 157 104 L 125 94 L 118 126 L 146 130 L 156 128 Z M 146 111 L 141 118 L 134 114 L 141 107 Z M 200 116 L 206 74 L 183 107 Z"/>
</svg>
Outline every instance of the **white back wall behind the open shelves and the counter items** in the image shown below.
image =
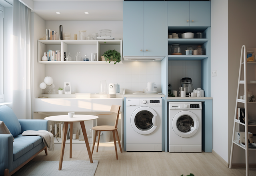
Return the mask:
<svg viewBox="0 0 256 176">
<path fill-rule="evenodd" d="M 122 21 L 46 21 L 45 28 L 63 32 L 71 32 L 71 39 L 79 30 L 90 33 L 99 33 L 100 29 L 111 29 L 112 36 L 122 39 Z M 45 29 L 44 29 L 45 30 Z M 83 51 L 81 51 L 83 52 Z M 74 57 L 74 55 L 73 55 Z M 54 79 L 56 88 L 63 87 L 64 82 L 71 82 L 72 93 L 98 93 L 100 80 L 120 84 L 121 93 L 126 88 L 126 93 L 143 91 L 147 82 L 155 82 L 158 92 L 161 92 L 161 62 L 125 62 L 118 65 L 45 65 L 45 76 Z M 41 79 L 39 82 L 42 82 Z M 38 83 L 39 86 L 39 83 Z M 35 94 L 36 95 L 36 94 Z M 38 96 L 38 95 L 37 95 Z"/>
</svg>

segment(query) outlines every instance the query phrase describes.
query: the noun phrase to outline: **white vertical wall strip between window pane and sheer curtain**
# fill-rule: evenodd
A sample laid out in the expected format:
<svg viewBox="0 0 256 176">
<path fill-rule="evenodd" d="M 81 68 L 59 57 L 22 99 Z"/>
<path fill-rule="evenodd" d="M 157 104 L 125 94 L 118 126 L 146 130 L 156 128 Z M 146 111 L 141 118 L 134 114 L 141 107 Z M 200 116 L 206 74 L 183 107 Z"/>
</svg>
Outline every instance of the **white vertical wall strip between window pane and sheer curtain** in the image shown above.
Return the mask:
<svg viewBox="0 0 256 176">
<path fill-rule="evenodd" d="M 12 7 L 4 8 L 4 101 L 12 102 Z"/>
</svg>

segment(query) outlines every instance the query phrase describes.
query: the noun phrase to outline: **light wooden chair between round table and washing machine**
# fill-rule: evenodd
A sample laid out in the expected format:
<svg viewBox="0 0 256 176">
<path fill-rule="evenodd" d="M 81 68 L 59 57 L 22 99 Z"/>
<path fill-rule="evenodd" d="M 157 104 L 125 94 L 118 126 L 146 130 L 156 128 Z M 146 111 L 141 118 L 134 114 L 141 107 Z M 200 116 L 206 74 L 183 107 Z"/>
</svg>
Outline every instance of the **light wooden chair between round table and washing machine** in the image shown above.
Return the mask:
<svg viewBox="0 0 256 176">
<path fill-rule="evenodd" d="M 95 146 L 95 142 L 96 142 L 96 137 L 97 137 L 97 133 L 99 132 L 99 136 L 98 136 L 98 144 L 97 144 L 97 150 L 96 152 L 98 152 L 98 148 L 99 148 L 99 143 L 100 143 L 100 132 L 101 131 L 112 131 L 113 133 L 113 138 L 114 138 L 114 144 L 115 144 L 115 150 L 116 150 L 116 159 L 118 160 L 118 156 L 117 156 L 117 149 L 116 149 L 116 137 L 118 139 L 118 144 L 119 144 L 119 148 L 120 151 L 122 153 L 122 146 L 120 144 L 120 140 L 119 140 L 119 136 L 118 136 L 118 132 L 117 132 L 117 124 L 118 124 L 118 116 L 119 116 L 119 111 L 120 111 L 120 105 L 112 105 L 110 112 L 114 112 L 116 113 L 116 122 L 115 122 L 115 126 L 94 126 L 92 127 L 92 130 L 95 130 L 95 135 L 94 135 L 94 141 L 93 141 L 93 146 L 92 146 L 92 153 L 94 150 L 94 146 Z M 110 115 L 110 114 L 99 114 L 99 115 Z M 115 136 L 115 132 L 116 132 L 116 136 Z"/>
</svg>

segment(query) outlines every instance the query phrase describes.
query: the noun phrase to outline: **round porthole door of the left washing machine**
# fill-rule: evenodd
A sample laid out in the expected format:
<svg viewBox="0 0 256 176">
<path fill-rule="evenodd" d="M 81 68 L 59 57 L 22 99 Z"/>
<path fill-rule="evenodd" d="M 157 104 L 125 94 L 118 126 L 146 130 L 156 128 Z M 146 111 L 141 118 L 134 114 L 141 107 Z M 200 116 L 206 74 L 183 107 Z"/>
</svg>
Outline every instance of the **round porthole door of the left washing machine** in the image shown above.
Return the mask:
<svg viewBox="0 0 256 176">
<path fill-rule="evenodd" d="M 156 112 L 149 107 L 137 108 L 131 116 L 131 124 L 134 131 L 139 134 L 150 134 L 156 130 L 159 124 Z"/>
</svg>

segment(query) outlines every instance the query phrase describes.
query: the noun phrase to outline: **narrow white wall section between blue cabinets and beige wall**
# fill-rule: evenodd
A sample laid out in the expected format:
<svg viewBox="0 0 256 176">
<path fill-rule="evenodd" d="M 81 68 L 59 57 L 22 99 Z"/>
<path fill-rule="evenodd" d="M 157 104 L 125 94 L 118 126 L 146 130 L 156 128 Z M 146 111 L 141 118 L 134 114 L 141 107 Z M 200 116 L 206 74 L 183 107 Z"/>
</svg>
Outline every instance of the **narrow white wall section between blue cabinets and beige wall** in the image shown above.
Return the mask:
<svg viewBox="0 0 256 176">
<path fill-rule="evenodd" d="M 228 0 L 212 0 L 212 148 L 228 162 Z"/>
</svg>

